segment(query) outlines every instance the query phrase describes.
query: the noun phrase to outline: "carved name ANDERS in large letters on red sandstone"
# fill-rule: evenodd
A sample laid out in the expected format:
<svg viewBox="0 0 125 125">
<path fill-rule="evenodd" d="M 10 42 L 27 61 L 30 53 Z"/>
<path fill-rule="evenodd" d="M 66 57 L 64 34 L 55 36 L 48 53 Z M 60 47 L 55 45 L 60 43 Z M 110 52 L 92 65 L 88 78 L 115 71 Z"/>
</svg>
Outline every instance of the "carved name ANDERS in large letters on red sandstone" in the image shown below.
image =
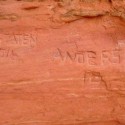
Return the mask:
<svg viewBox="0 0 125 125">
<path fill-rule="evenodd" d="M 100 63 L 97 60 L 98 57 L 100 57 Z M 86 64 L 89 66 L 120 64 L 120 59 L 120 50 L 115 49 L 102 50 L 99 53 L 96 51 L 63 52 L 60 48 L 57 48 L 54 54 L 54 60 L 60 60 L 63 63 Z"/>
</svg>

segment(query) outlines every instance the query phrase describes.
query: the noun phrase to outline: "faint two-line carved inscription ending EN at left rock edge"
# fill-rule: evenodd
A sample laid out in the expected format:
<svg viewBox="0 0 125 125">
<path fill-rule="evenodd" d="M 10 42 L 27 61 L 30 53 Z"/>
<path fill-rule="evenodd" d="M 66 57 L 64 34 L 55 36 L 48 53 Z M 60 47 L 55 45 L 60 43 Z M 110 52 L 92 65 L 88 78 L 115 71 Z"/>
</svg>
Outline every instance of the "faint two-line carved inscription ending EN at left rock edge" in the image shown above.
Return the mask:
<svg viewBox="0 0 125 125">
<path fill-rule="evenodd" d="M 22 60 L 24 53 L 32 50 L 37 44 L 36 34 L 31 33 L 6 33 L 0 34 L 0 62 Z"/>
</svg>

